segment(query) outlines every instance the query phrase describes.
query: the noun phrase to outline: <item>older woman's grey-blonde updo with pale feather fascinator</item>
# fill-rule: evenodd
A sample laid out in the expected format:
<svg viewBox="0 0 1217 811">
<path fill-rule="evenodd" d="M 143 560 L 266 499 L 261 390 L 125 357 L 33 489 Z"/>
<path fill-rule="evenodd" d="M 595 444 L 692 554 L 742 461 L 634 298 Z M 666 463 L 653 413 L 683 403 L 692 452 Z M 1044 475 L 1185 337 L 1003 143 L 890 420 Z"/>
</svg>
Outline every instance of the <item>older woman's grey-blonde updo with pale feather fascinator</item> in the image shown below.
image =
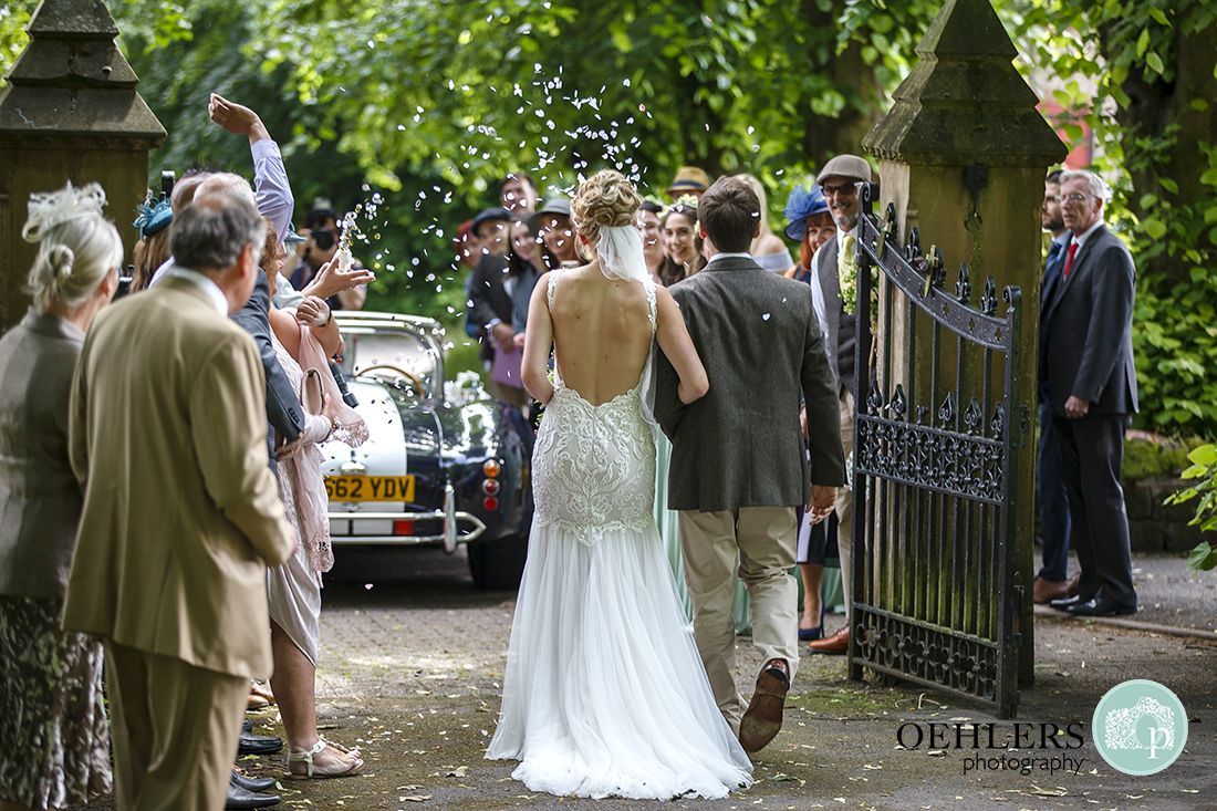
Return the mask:
<svg viewBox="0 0 1217 811">
<path fill-rule="evenodd" d="M 96 183 L 75 189 L 30 195 L 29 218 L 21 235 L 38 242 L 26 291 L 34 309 L 46 312 L 57 301 L 83 303 L 112 268 L 123 261 L 123 240 L 114 224 L 101 216 L 106 192 Z"/>
</svg>

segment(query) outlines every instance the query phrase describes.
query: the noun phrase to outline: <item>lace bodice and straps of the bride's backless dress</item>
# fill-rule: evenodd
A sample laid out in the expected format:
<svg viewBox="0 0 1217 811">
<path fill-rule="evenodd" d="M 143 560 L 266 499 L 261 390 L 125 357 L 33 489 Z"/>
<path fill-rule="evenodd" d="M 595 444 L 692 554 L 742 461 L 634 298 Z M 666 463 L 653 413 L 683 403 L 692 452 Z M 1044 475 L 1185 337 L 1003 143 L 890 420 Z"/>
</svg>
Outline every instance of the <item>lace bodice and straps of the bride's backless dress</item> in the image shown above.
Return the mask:
<svg viewBox="0 0 1217 811">
<path fill-rule="evenodd" d="M 550 306 L 559 275 L 549 278 Z M 644 287 L 654 337 L 655 283 Z M 599 406 L 555 380 L 533 448 L 534 521 L 590 546 L 606 531 L 639 531 L 655 520 L 655 438 L 639 398 L 650 365 L 638 385 Z"/>
</svg>

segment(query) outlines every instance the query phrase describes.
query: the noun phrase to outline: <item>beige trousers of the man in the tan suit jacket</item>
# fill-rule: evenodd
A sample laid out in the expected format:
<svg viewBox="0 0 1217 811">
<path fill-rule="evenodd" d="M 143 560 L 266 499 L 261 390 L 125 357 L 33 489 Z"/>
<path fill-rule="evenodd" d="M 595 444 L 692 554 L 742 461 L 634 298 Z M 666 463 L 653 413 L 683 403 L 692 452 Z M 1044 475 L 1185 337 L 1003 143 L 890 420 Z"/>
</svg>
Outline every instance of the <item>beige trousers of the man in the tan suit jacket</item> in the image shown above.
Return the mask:
<svg viewBox="0 0 1217 811">
<path fill-rule="evenodd" d="M 220 811 L 249 679 L 106 641 L 118 811 Z"/>
</svg>

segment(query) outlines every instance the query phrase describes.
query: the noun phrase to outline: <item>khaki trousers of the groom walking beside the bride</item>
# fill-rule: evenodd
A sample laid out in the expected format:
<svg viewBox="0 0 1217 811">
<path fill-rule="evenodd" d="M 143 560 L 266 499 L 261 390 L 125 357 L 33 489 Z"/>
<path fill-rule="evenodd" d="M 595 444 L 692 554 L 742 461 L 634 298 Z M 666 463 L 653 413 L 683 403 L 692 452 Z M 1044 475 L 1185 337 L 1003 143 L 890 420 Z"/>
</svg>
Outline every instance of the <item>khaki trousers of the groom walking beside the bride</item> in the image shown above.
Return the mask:
<svg viewBox="0 0 1217 811">
<path fill-rule="evenodd" d="M 719 513 L 680 511 L 685 583 L 692 600 L 692 633 L 718 709 L 739 734 L 747 703 L 735 687 L 735 559 L 752 603 L 752 644 L 762 667 L 784 659 L 798 670 L 798 522 L 793 507 L 741 507 Z M 757 670 L 757 677 L 761 670 Z"/>
</svg>

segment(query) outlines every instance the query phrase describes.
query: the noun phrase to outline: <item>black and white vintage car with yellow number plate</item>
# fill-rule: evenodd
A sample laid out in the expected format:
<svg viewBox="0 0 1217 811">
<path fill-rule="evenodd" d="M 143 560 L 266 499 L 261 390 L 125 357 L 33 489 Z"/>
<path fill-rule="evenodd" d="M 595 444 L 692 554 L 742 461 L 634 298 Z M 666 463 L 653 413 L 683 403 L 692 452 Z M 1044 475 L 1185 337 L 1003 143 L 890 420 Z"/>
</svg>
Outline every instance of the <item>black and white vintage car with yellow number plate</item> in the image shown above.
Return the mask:
<svg viewBox="0 0 1217 811">
<path fill-rule="evenodd" d="M 335 547 L 464 543 L 478 588 L 516 588 L 533 513 L 528 423 L 481 384 L 445 379 L 438 321 L 335 318 L 338 367 L 370 435 L 323 446 Z"/>
</svg>

